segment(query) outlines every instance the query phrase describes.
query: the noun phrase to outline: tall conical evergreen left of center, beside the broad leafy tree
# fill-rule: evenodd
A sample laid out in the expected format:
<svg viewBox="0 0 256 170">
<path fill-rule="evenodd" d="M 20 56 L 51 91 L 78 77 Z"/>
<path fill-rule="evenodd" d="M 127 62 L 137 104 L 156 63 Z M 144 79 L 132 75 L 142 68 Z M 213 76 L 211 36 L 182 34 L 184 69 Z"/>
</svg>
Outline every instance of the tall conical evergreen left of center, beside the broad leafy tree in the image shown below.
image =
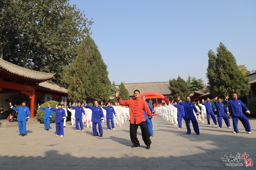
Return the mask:
<svg viewBox="0 0 256 170">
<path fill-rule="evenodd" d="M 64 68 L 62 81 L 68 86 L 70 100 L 109 100 L 111 82 L 107 65 L 89 35 L 77 48 L 76 60 Z"/>
</svg>

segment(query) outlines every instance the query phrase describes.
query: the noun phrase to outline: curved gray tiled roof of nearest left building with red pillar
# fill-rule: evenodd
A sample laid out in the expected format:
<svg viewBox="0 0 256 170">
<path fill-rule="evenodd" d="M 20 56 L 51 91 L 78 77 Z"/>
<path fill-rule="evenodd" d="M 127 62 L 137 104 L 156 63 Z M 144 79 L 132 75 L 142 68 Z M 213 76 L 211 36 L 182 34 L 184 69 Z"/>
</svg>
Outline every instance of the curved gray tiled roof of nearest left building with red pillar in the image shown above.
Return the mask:
<svg viewBox="0 0 256 170">
<path fill-rule="evenodd" d="M 44 73 L 20 67 L 18 65 L 9 63 L 0 59 L 0 71 L 8 71 L 14 76 L 25 77 L 34 80 L 49 80 L 53 78 L 54 73 Z"/>
</svg>

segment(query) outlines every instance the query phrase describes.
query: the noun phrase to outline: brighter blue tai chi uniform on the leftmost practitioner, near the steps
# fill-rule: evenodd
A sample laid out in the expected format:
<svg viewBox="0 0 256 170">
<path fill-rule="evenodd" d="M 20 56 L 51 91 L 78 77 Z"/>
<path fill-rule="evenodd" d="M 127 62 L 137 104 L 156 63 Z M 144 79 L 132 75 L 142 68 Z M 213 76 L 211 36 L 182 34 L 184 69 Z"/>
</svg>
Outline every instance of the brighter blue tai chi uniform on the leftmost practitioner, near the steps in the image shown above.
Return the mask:
<svg viewBox="0 0 256 170">
<path fill-rule="evenodd" d="M 28 119 L 26 119 L 27 117 L 30 117 L 30 110 L 27 106 L 22 106 L 22 107 L 13 107 L 11 106 L 11 108 L 15 111 L 18 111 L 18 115 L 17 115 L 17 121 L 19 122 L 19 131 L 20 134 L 26 134 L 27 133 L 27 121 Z"/>
</svg>

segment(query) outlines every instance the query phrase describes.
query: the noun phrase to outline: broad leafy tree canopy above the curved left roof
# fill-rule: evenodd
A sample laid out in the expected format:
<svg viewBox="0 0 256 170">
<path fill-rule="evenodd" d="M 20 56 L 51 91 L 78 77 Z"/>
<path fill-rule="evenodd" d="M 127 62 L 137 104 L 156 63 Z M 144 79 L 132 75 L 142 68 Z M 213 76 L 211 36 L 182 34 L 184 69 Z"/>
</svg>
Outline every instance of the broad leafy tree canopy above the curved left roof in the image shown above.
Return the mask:
<svg viewBox="0 0 256 170">
<path fill-rule="evenodd" d="M 56 72 L 60 82 L 80 40 L 91 34 L 93 22 L 83 12 L 68 0 L 1 0 L 0 55 L 28 69 Z"/>
</svg>

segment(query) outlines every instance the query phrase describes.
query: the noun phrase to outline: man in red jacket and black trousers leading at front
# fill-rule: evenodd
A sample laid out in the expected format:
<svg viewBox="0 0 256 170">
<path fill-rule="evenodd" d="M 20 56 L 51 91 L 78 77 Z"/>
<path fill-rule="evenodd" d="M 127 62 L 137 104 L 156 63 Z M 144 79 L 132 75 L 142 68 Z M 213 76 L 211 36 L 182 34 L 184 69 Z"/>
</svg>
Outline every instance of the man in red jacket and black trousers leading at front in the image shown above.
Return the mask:
<svg viewBox="0 0 256 170">
<path fill-rule="evenodd" d="M 147 145 L 146 149 L 150 149 L 150 136 L 146 125 L 144 111 L 148 115 L 148 119 L 152 119 L 151 111 L 148 107 L 146 101 L 140 99 L 140 91 L 135 90 L 133 92 L 134 98 L 130 100 L 123 101 L 119 98 L 119 91 L 116 92 L 116 99 L 121 105 L 129 106 L 130 110 L 130 137 L 133 143 L 132 148 L 140 146 L 140 142 L 137 138 L 137 129 L 140 126 L 142 139 Z"/>
</svg>

